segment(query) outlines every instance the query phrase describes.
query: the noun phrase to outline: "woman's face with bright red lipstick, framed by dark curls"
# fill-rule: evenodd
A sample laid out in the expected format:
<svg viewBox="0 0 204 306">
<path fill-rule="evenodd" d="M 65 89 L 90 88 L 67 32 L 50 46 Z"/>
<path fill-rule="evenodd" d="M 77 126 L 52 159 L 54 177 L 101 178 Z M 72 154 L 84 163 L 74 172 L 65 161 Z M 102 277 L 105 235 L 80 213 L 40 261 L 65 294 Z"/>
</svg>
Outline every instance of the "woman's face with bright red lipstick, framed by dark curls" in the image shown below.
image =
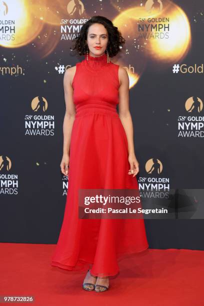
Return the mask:
<svg viewBox="0 0 204 306">
<path fill-rule="evenodd" d="M 105 52 L 108 33 L 104 25 L 93 23 L 88 27 L 87 44 L 91 56 L 100 56 Z M 96 46 L 100 48 L 95 48 Z"/>
</svg>

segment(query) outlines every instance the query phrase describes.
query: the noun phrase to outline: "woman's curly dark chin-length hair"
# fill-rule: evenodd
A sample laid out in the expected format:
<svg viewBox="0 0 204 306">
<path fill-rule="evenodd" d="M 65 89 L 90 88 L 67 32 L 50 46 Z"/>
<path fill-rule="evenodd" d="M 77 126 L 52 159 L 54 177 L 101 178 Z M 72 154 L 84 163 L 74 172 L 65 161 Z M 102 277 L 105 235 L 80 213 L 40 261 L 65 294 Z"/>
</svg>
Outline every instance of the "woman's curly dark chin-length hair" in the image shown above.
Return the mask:
<svg viewBox="0 0 204 306">
<path fill-rule="evenodd" d="M 88 21 L 86 21 L 78 33 L 78 36 L 73 38 L 74 46 L 70 47 L 71 50 L 76 50 L 79 55 L 86 54 L 86 42 L 88 27 L 93 23 L 101 23 L 107 30 L 108 33 L 108 43 L 107 49 L 110 57 L 115 56 L 121 51 L 125 39 L 121 36 L 120 31 L 116 26 L 113 25 L 112 21 L 103 16 L 92 16 Z M 106 53 L 106 50 L 105 50 Z"/>
</svg>

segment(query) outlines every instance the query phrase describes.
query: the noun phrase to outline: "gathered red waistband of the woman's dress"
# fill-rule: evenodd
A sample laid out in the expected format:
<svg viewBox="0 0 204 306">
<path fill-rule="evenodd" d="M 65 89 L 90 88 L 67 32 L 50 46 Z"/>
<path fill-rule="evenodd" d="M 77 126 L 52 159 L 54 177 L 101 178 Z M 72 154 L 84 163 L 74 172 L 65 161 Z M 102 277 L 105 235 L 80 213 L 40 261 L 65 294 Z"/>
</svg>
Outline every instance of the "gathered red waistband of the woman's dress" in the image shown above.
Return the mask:
<svg viewBox="0 0 204 306">
<path fill-rule="evenodd" d="M 116 110 L 116 104 L 110 104 L 108 102 L 102 101 L 102 103 L 87 103 L 85 102 L 76 105 L 76 114 L 75 117 L 84 116 L 86 114 L 100 113 L 112 116 L 118 116 Z"/>
</svg>

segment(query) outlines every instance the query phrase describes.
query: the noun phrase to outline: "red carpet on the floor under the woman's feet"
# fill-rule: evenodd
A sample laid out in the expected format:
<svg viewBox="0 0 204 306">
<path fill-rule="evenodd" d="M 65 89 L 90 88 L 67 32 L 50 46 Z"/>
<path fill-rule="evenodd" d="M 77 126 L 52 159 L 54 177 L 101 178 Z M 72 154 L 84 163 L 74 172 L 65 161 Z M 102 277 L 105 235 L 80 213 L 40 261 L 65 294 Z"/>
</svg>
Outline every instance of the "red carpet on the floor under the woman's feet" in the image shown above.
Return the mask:
<svg viewBox="0 0 204 306">
<path fill-rule="evenodd" d="M 50 266 L 54 247 L 0 243 L 0 295 L 33 295 L 29 304 L 43 306 L 204 305 L 204 251 L 147 249 L 119 261 L 120 274 L 98 293 L 82 289 L 84 273 Z"/>
</svg>

